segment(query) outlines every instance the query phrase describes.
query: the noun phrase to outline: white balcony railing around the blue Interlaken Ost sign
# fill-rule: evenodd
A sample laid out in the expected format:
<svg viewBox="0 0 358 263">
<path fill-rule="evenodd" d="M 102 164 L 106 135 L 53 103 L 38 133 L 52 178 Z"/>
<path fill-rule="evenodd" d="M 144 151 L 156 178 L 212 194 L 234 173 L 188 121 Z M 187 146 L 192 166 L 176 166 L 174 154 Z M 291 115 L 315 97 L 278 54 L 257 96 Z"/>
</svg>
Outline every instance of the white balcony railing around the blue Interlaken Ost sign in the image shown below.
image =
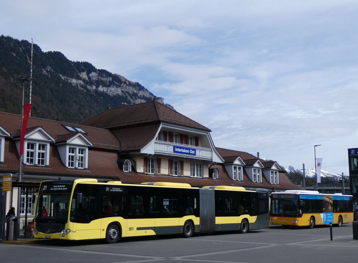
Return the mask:
<svg viewBox="0 0 358 263">
<path fill-rule="evenodd" d="M 179 147 L 185 147 L 190 149 L 195 149 L 196 154 L 186 154 L 186 153 L 176 153 L 174 152 L 174 145 Z M 198 147 L 193 145 L 186 145 L 180 143 L 170 143 L 170 142 L 163 142 L 163 141 L 155 141 L 154 142 L 154 152 L 155 153 L 162 153 L 162 154 L 170 154 L 170 155 L 178 155 L 178 156 L 187 156 L 197 159 L 205 159 L 205 160 L 212 160 L 213 159 L 213 151 L 210 148 Z"/>
</svg>

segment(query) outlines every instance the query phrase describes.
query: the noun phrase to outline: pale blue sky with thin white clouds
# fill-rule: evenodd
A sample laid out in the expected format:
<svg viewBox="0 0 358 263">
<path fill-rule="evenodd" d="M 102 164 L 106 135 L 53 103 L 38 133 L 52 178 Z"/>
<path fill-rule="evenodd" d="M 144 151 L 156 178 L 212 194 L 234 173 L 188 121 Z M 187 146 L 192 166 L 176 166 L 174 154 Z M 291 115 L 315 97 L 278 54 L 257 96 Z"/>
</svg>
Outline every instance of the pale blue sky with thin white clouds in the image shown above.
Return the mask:
<svg viewBox="0 0 358 263">
<path fill-rule="evenodd" d="M 138 81 L 217 147 L 348 174 L 358 1 L 3 1 L 0 34 Z M 35 58 L 36 59 L 36 58 Z"/>
</svg>

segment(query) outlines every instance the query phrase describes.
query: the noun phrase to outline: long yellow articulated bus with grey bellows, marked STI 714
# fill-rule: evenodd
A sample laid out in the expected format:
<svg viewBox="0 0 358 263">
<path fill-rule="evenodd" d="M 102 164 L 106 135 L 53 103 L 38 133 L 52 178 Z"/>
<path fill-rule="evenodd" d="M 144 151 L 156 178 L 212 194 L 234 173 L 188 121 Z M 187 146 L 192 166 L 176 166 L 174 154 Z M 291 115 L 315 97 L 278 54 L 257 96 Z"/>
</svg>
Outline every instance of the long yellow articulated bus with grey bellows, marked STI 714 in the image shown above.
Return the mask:
<svg viewBox="0 0 358 263">
<path fill-rule="evenodd" d="M 96 179 L 40 185 L 35 238 L 84 240 L 249 229 L 269 226 L 266 189 L 191 187 L 182 183 L 124 184 Z"/>
</svg>

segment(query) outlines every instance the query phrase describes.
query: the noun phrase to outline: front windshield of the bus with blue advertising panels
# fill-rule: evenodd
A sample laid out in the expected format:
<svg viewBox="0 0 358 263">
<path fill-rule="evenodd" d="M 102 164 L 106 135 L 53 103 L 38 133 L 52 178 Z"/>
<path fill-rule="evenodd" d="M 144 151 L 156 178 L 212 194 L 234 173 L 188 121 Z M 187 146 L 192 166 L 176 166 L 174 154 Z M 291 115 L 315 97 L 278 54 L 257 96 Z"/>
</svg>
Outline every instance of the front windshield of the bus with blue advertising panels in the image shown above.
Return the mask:
<svg viewBox="0 0 358 263">
<path fill-rule="evenodd" d="M 271 194 L 271 215 L 300 215 L 297 197 L 297 194 Z"/>
</svg>

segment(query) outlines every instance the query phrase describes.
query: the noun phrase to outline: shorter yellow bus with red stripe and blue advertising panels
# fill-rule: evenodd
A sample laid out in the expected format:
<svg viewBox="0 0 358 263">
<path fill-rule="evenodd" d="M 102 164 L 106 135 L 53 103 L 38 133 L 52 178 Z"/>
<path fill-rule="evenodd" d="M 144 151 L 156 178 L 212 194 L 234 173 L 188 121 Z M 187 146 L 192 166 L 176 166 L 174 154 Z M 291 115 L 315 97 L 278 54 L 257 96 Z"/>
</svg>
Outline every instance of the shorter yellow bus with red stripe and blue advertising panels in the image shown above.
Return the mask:
<svg viewBox="0 0 358 263">
<path fill-rule="evenodd" d="M 270 224 L 309 226 L 353 222 L 352 195 L 286 190 L 271 193 Z"/>
</svg>

